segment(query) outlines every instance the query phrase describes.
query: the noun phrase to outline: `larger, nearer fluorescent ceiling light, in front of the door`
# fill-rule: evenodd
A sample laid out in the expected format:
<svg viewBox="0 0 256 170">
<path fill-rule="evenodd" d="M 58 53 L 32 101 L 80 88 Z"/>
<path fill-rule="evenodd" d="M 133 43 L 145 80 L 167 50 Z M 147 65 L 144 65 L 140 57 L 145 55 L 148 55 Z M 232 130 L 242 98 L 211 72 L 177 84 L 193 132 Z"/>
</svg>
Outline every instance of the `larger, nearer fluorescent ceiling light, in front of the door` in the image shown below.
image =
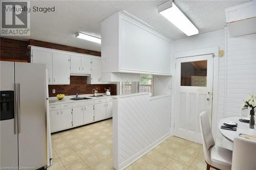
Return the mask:
<svg viewBox="0 0 256 170">
<path fill-rule="evenodd" d="M 158 6 L 158 12 L 170 22 L 172 22 L 187 36 L 198 34 L 198 29 L 196 28 L 196 26 L 172 1 L 168 1 Z"/>
</svg>

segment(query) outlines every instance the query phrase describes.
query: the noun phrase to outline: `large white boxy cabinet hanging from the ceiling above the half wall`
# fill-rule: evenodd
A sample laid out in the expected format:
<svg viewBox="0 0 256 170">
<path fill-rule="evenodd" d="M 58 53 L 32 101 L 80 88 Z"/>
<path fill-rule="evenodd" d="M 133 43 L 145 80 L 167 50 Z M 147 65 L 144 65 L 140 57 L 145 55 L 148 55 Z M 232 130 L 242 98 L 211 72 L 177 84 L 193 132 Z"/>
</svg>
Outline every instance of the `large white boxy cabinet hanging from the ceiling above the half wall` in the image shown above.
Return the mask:
<svg viewBox="0 0 256 170">
<path fill-rule="evenodd" d="M 101 22 L 102 73 L 170 76 L 170 47 L 170 39 L 126 12 Z"/>
</svg>

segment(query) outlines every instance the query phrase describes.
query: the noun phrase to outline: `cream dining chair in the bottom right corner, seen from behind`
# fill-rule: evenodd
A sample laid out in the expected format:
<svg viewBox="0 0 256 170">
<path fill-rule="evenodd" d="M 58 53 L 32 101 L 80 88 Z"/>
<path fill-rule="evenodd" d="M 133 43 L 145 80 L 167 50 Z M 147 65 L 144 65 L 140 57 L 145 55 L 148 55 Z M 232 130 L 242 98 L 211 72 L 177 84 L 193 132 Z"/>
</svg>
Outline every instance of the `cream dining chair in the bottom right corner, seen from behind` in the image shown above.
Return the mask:
<svg viewBox="0 0 256 170">
<path fill-rule="evenodd" d="M 256 169 L 256 141 L 245 138 L 234 138 L 231 169 Z"/>
</svg>

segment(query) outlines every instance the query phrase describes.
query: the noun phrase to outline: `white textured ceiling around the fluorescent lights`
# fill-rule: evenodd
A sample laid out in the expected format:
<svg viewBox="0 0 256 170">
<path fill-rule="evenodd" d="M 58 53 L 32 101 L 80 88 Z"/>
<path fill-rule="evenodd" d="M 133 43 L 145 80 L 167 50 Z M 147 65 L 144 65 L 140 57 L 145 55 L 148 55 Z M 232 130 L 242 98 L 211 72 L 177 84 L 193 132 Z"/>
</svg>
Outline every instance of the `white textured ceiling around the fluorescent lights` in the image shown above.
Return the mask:
<svg viewBox="0 0 256 170">
<path fill-rule="evenodd" d="M 158 5 L 166 1 L 31 1 L 31 6 L 53 7 L 55 12 L 31 12 L 31 36 L 9 37 L 37 39 L 89 50 L 100 51 L 100 44 L 75 38 L 75 33 L 100 37 L 100 22 L 113 13 L 125 10 L 172 39 L 186 37 L 158 13 Z M 200 33 L 225 26 L 224 9 L 246 1 L 175 1 L 194 22 Z"/>
</svg>

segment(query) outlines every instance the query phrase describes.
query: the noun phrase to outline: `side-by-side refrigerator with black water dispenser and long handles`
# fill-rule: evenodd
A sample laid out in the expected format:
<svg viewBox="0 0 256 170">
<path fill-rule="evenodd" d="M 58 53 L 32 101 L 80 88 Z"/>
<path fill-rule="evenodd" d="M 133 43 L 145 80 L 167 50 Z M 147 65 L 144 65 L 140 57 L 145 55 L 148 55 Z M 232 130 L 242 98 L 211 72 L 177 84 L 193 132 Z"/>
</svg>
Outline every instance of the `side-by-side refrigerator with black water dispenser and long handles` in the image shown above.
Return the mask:
<svg viewBox="0 0 256 170">
<path fill-rule="evenodd" d="M 1 61 L 0 71 L 0 167 L 46 167 L 46 66 Z"/>
</svg>

